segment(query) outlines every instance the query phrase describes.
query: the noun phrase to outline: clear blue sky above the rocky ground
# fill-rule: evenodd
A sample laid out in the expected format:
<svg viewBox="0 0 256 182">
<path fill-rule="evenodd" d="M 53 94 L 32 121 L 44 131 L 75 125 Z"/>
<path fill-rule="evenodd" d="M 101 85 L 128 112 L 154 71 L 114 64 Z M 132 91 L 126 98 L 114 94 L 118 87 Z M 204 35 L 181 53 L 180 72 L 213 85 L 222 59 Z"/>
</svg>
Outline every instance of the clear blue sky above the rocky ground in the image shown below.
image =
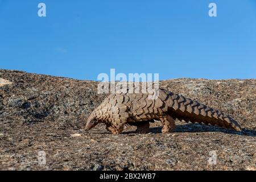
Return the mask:
<svg viewBox="0 0 256 182">
<path fill-rule="evenodd" d="M 256 1 L 0 0 L 0 68 L 82 80 L 110 68 L 161 80 L 256 78 Z"/>
</svg>

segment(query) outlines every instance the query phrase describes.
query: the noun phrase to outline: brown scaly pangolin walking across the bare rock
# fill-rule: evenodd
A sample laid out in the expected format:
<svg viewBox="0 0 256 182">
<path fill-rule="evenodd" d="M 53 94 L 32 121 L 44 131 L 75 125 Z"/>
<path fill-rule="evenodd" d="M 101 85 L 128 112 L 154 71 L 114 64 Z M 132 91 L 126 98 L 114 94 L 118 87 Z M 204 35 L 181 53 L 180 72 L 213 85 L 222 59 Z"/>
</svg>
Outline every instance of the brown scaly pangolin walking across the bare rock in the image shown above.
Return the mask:
<svg viewBox="0 0 256 182">
<path fill-rule="evenodd" d="M 241 131 L 240 125 L 228 115 L 189 98 L 164 89 L 159 89 L 156 100 L 148 96 L 149 93 L 110 94 L 90 114 L 85 129 L 105 123 L 106 129 L 113 134 L 121 133 L 125 125 L 137 126 L 137 133 L 148 133 L 150 122 L 157 120 L 163 124 L 162 133 L 169 133 L 174 130 L 177 118 Z"/>
</svg>

